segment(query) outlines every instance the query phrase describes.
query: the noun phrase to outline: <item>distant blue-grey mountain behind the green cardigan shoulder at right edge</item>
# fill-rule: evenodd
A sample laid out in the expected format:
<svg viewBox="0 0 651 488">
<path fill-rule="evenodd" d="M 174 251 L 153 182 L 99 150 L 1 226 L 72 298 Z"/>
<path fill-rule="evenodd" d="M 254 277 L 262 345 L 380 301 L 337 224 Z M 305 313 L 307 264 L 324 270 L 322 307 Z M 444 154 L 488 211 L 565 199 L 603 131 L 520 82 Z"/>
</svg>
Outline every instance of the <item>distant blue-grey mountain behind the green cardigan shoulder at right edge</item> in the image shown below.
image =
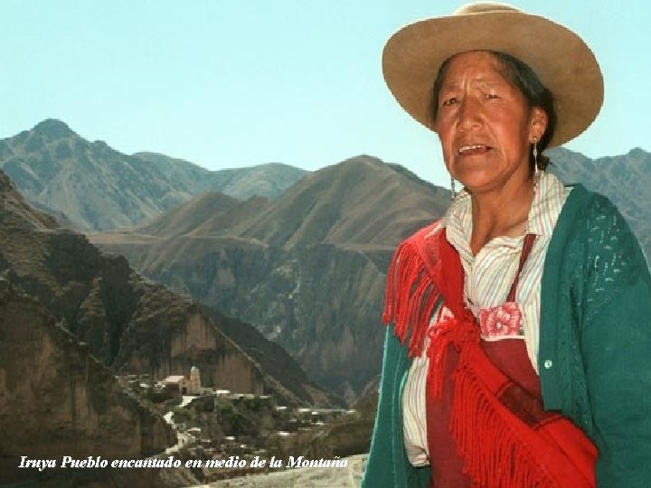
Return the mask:
<svg viewBox="0 0 651 488">
<path fill-rule="evenodd" d="M 590 159 L 564 148 L 549 151 L 550 170 L 565 183 L 582 183 L 609 197 L 651 257 L 651 154 L 635 148 L 627 155 Z"/>
</svg>

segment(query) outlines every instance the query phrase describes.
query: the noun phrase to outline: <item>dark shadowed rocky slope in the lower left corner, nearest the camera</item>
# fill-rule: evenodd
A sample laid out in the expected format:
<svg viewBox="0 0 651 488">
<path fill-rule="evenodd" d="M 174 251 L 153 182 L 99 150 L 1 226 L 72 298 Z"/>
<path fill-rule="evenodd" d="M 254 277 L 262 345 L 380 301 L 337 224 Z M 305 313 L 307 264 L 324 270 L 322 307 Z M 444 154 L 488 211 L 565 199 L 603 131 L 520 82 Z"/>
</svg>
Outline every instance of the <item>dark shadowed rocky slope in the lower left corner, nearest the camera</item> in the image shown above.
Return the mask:
<svg viewBox="0 0 651 488">
<path fill-rule="evenodd" d="M 0 481 L 30 477 L 21 456 L 105 459 L 175 444 L 163 418 L 127 397 L 86 345 L 0 278 Z"/>
</svg>

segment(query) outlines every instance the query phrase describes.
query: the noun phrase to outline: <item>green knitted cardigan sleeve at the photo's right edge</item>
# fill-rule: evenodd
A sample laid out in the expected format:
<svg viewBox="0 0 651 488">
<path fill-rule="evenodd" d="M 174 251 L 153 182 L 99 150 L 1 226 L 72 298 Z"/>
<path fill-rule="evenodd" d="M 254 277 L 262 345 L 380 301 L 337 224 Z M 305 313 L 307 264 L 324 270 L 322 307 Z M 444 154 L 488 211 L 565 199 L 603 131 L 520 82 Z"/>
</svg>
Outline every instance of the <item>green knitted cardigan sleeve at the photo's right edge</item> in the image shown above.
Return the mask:
<svg viewBox="0 0 651 488">
<path fill-rule="evenodd" d="M 588 243 L 580 348 L 599 448 L 599 487 L 651 486 L 651 277 L 627 222 L 598 196 Z"/>
</svg>

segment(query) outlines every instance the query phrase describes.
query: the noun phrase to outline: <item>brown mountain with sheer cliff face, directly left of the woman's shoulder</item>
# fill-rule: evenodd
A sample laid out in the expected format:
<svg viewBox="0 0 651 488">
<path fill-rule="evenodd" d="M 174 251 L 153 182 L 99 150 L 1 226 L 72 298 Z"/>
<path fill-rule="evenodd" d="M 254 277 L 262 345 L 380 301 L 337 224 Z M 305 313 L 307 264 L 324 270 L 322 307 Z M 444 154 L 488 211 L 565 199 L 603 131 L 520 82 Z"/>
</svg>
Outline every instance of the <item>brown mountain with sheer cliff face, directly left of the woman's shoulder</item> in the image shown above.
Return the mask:
<svg viewBox="0 0 651 488">
<path fill-rule="evenodd" d="M 133 231 L 89 238 L 255 325 L 352 401 L 379 372 L 393 249 L 448 202 L 447 190 L 404 168 L 358 156 L 308 174 L 275 201 L 210 193 Z"/>
</svg>

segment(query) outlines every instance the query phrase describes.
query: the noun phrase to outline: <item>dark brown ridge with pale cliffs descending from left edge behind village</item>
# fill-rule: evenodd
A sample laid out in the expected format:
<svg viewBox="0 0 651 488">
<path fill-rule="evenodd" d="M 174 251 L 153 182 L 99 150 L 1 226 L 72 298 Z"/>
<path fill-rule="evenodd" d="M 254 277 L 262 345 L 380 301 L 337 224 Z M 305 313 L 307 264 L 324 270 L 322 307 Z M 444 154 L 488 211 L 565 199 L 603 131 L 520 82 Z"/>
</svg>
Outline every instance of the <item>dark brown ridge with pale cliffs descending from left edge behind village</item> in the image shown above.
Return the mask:
<svg viewBox="0 0 651 488">
<path fill-rule="evenodd" d="M 0 276 L 44 305 L 111 371 L 160 380 L 196 365 L 206 386 L 271 393 L 288 405 L 336 403 L 278 344 L 58 228 L 24 202 L 2 172 Z"/>
</svg>

